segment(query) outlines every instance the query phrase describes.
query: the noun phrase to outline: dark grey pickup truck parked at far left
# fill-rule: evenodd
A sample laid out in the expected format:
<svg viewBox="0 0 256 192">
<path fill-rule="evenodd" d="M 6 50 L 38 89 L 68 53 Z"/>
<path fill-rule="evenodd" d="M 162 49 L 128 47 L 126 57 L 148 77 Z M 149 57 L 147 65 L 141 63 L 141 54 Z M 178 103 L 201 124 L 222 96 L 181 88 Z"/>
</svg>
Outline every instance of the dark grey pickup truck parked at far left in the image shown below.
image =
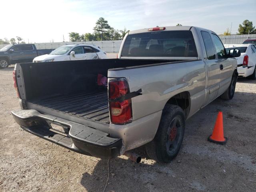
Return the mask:
<svg viewBox="0 0 256 192">
<path fill-rule="evenodd" d="M 10 64 L 32 62 L 39 55 L 52 52 L 54 49 L 36 49 L 34 44 L 10 44 L 0 49 L 0 68 Z"/>
</svg>

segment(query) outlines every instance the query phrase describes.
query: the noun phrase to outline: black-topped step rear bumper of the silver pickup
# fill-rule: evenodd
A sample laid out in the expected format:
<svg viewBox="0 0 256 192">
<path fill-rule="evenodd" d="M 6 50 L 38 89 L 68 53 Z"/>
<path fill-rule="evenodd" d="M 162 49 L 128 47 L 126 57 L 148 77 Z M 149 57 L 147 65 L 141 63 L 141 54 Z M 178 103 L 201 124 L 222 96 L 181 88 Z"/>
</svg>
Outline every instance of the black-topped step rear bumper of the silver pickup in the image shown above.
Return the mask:
<svg viewBox="0 0 256 192">
<path fill-rule="evenodd" d="M 14 120 L 22 129 L 40 138 L 68 148 L 74 152 L 110 159 L 120 155 L 122 139 L 111 138 L 108 133 L 70 122 L 36 110 L 12 111 Z M 67 134 L 52 130 L 50 124 L 65 128 Z"/>
</svg>

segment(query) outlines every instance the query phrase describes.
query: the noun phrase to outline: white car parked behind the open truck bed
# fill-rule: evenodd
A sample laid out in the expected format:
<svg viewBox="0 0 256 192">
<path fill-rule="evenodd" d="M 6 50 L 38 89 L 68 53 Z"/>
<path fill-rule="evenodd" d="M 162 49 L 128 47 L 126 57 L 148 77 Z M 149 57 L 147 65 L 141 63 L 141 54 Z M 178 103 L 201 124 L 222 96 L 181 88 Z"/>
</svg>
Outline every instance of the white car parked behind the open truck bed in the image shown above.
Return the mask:
<svg viewBox="0 0 256 192">
<path fill-rule="evenodd" d="M 50 54 L 34 58 L 33 62 L 106 59 L 106 52 L 92 44 L 64 45 Z"/>
</svg>

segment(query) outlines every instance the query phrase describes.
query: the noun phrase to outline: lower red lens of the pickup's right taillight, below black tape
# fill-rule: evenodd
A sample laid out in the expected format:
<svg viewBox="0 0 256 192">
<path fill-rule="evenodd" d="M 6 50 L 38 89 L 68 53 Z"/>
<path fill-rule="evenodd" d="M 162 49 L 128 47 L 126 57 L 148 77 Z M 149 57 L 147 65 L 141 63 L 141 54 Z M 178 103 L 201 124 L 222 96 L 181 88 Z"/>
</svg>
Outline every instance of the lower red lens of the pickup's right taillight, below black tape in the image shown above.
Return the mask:
<svg viewBox="0 0 256 192">
<path fill-rule="evenodd" d="M 132 121 L 131 99 L 123 102 L 110 102 L 110 120 L 114 124 L 126 124 Z"/>
</svg>

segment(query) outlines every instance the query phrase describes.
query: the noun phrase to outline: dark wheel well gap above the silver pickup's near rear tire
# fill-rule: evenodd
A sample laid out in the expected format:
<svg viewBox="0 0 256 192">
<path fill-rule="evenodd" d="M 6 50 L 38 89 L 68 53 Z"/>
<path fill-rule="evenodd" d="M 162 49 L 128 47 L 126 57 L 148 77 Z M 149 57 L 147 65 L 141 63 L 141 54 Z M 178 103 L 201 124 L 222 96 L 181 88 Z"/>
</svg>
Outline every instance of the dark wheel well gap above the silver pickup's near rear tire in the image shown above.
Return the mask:
<svg viewBox="0 0 256 192">
<path fill-rule="evenodd" d="M 184 111 L 186 117 L 190 111 L 190 94 L 189 92 L 181 92 L 179 94 L 174 95 L 167 101 L 168 104 L 178 105 Z"/>
</svg>

